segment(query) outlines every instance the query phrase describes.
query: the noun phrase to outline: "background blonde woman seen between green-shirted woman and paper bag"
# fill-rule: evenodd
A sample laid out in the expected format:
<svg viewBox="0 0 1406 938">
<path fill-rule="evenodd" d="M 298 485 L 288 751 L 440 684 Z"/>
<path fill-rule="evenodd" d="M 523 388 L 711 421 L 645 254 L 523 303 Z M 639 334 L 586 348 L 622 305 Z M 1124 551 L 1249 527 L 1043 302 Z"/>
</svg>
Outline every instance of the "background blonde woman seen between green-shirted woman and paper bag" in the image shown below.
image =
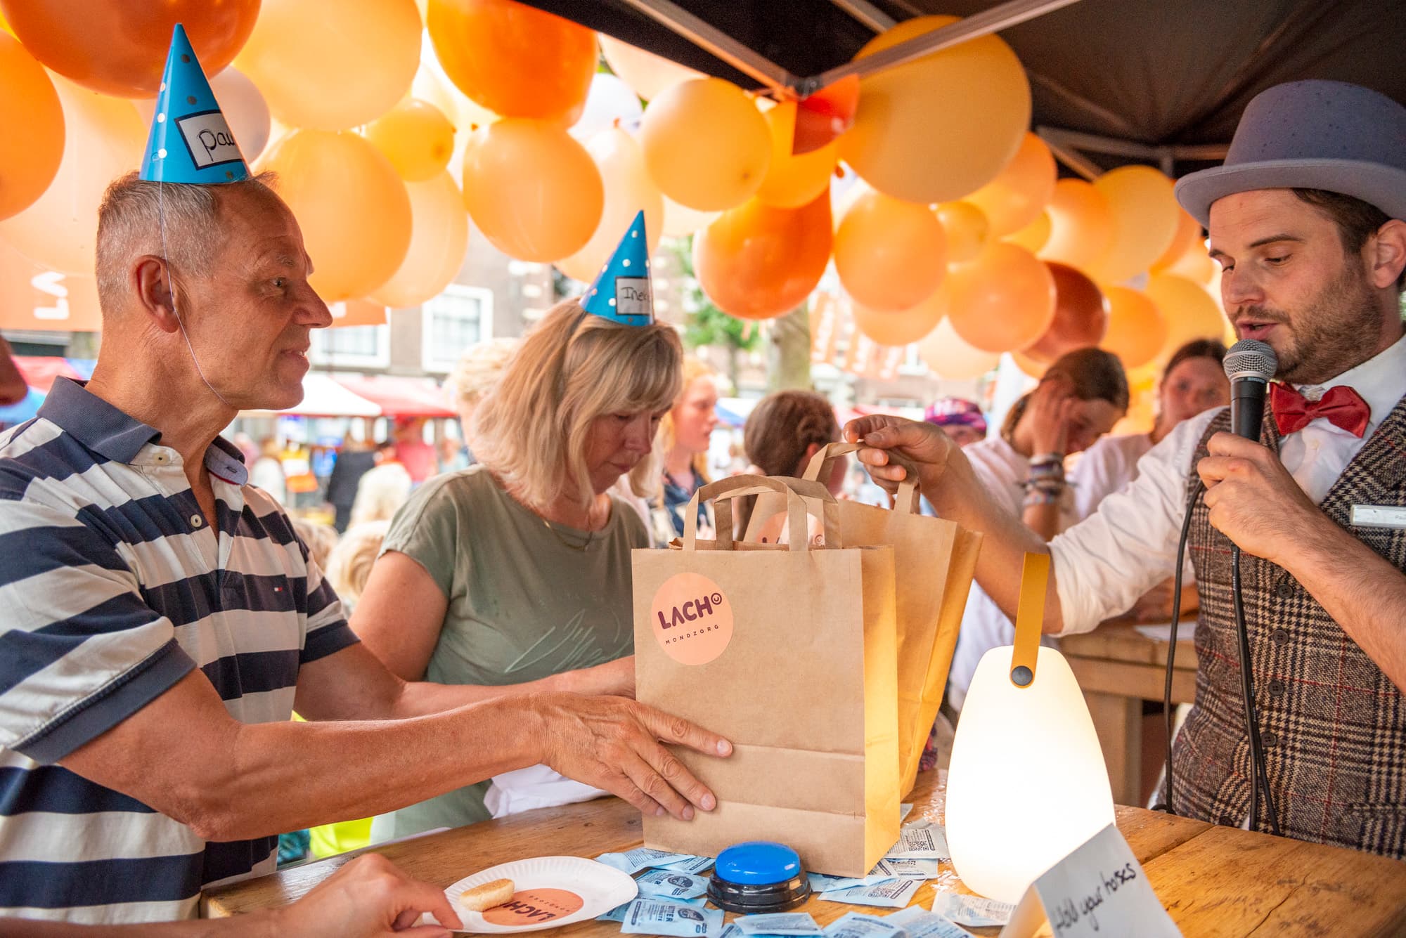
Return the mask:
<svg viewBox="0 0 1406 938">
<path fill-rule="evenodd" d="M 659 424 L 657 452 L 664 476 L 655 507 L 666 513 L 668 525 L 659 531 L 662 541 L 683 534 L 683 510 L 693 493 L 710 482 L 707 448 L 717 427 L 717 372 L 696 358 L 683 359 L 683 390 Z M 711 529 L 706 508 L 699 506 L 699 524 Z M 665 536 L 666 535 L 666 536 Z"/>
</svg>

